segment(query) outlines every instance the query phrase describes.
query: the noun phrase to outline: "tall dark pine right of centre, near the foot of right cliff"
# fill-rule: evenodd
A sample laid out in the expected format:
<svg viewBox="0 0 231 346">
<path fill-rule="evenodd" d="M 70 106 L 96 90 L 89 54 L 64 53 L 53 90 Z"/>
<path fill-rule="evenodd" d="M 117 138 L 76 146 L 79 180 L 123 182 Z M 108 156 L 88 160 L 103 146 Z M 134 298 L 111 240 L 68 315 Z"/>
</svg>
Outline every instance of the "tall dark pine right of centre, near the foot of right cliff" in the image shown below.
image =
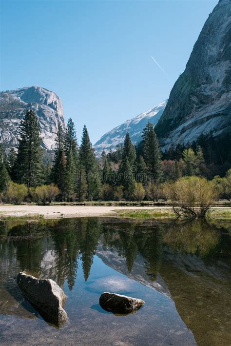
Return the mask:
<svg viewBox="0 0 231 346">
<path fill-rule="evenodd" d="M 150 180 L 157 182 L 161 178 L 161 154 L 153 124 L 146 125 L 142 137 L 144 161 L 148 167 Z"/>
</svg>

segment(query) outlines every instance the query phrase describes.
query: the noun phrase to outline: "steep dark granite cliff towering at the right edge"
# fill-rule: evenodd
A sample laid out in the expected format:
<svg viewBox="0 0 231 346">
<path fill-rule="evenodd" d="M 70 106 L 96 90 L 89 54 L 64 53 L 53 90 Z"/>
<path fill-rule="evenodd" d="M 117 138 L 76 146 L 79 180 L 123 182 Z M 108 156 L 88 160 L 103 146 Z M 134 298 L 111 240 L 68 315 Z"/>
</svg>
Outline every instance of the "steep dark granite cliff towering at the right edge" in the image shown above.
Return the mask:
<svg viewBox="0 0 231 346">
<path fill-rule="evenodd" d="M 155 130 L 162 149 L 231 130 L 231 0 L 205 22 Z"/>
</svg>

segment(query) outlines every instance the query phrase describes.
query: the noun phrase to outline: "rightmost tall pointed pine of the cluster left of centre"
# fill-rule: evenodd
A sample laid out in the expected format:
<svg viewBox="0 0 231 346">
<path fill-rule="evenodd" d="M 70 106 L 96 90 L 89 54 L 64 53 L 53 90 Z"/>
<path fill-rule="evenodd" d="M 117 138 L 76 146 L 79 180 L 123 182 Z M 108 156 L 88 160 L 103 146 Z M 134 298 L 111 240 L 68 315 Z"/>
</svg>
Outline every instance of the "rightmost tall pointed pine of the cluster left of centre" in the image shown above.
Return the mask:
<svg viewBox="0 0 231 346">
<path fill-rule="evenodd" d="M 83 127 L 81 145 L 79 147 L 79 162 L 80 169 L 84 171 L 87 182 L 87 199 L 91 201 L 93 198 L 97 198 L 101 188 L 101 177 L 99 171 L 99 165 L 96 160 L 96 155 L 86 125 Z"/>
</svg>

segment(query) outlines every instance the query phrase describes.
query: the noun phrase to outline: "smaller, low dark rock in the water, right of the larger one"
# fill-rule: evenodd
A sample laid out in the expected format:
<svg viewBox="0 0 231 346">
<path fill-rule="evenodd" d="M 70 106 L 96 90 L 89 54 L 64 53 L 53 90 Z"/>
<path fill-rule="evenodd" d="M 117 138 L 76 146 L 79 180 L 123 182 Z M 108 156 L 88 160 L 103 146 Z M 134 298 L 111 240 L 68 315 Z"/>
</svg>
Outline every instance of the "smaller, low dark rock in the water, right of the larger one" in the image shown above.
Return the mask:
<svg viewBox="0 0 231 346">
<path fill-rule="evenodd" d="M 144 301 L 132 297 L 122 296 L 116 293 L 104 292 L 99 298 L 100 306 L 106 310 L 115 314 L 128 314 L 135 310 L 138 310 Z"/>
</svg>

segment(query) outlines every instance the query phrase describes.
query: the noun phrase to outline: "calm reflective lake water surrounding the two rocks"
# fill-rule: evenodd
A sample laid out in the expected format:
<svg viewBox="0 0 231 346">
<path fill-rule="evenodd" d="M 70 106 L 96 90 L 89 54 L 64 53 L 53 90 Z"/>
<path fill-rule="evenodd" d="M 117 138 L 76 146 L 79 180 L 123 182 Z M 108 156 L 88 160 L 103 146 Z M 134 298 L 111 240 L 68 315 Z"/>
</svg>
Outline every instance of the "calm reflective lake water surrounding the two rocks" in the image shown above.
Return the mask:
<svg viewBox="0 0 231 346">
<path fill-rule="evenodd" d="M 51 278 L 69 321 L 46 323 L 16 275 Z M 145 300 L 116 316 L 102 292 Z M 231 222 L 0 222 L 0 344 L 231 345 Z"/>
</svg>

